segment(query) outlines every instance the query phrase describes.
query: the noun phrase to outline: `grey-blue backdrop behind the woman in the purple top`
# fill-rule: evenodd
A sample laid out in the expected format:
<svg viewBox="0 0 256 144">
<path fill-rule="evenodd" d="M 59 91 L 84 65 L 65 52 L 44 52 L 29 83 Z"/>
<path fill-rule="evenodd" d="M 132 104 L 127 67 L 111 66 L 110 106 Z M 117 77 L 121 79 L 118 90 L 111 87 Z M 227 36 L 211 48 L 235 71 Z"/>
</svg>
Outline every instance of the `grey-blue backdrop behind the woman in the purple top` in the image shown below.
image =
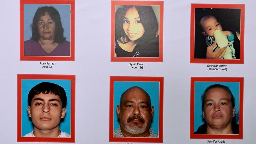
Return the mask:
<svg viewBox="0 0 256 144">
<path fill-rule="evenodd" d="M 67 4 L 24 4 L 24 41 L 29 40 L 32 36 L 31 24 L 36 10 L 39 7 L 52 6 L 60 14 L 60 20 L 64 29 L 64 37 L 70 42 L 70 5 Z"/>
</svg>

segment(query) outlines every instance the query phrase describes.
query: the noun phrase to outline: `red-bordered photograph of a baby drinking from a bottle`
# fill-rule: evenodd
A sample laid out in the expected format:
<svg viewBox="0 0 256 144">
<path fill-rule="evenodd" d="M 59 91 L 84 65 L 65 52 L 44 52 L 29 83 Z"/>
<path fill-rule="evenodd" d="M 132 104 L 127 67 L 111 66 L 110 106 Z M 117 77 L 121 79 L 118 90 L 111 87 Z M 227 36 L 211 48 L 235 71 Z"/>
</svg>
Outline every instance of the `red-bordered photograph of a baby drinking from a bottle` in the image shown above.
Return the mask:
<svg viewBox="0 0 256 144">
<path fill-rule="evenodd" d="M 244 4 L 191 4 L 190 63 L 244 63 Z"/>
</svg>

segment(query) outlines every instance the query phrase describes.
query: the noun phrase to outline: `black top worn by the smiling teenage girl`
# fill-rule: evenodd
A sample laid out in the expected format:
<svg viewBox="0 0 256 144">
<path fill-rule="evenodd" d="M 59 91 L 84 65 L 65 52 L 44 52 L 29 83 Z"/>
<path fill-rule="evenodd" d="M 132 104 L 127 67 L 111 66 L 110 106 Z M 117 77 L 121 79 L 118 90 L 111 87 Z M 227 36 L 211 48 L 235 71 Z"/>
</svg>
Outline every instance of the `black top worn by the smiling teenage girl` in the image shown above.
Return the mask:
<svg viewBox="0 0 256 144">
<path fill-rule="evenodd" d="M 159 36 L 147 43 L 139 43 L 132 52 L 123 50 L 116 42 L 117 57 L 159 57 Z"/>
</svg>

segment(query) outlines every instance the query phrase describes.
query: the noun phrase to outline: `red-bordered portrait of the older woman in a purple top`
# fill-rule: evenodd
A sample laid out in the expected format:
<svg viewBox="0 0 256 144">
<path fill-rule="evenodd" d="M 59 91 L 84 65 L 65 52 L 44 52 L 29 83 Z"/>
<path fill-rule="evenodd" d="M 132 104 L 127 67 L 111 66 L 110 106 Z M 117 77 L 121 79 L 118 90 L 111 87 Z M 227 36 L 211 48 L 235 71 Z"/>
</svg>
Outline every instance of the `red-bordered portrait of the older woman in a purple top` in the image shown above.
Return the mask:
<svg viewBox="0 0 256 144">
<path fill-rule="evenodd" d="M 20 0 L 20 20 L 20 60 L 74 61 L 74 0 Z"/>
</svg>

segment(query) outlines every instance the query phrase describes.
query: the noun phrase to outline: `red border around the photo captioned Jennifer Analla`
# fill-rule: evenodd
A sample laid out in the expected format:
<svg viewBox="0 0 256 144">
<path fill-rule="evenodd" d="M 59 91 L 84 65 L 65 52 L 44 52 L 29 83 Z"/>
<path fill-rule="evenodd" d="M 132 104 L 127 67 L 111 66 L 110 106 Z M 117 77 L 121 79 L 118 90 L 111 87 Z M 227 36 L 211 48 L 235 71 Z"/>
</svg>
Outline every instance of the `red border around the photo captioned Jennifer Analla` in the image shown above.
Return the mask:
<svg viewBox="0 0 256 144">
<path fill-rule="evenodd" d="M 239 82 L 239 134 L 238 135 L 214 135 L 194 134 L 194 101 L 195 82 Z M 191 139 L 243 139 L 243 94 L 244 78 L 241 77 L 191 77 L 190 99 L 190 138 Z"/>
</svg>

